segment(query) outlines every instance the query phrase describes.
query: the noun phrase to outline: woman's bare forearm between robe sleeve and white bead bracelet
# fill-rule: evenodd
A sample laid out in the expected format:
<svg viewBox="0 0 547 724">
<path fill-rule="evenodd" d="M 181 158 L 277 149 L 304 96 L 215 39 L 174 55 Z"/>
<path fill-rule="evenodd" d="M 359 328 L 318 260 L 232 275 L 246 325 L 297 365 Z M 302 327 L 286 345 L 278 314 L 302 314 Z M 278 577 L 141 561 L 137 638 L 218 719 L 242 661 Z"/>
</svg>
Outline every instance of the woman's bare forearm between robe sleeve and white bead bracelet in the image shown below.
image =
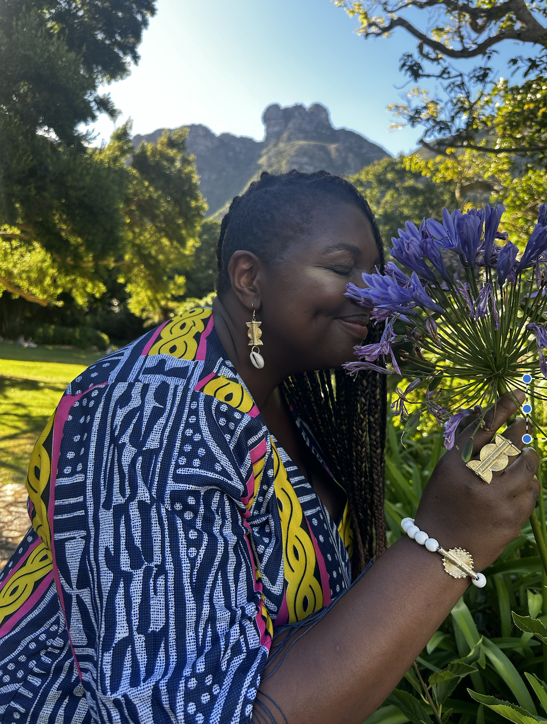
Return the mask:
<svg viewBox="0 0 547 724">
<path fill-rule="evenodd" d="M 289 724 L 361 724 L 468 584 L 448 576 L 439 555 L 404 536 L 292 645 L 260 691 Z"/>
</svg>

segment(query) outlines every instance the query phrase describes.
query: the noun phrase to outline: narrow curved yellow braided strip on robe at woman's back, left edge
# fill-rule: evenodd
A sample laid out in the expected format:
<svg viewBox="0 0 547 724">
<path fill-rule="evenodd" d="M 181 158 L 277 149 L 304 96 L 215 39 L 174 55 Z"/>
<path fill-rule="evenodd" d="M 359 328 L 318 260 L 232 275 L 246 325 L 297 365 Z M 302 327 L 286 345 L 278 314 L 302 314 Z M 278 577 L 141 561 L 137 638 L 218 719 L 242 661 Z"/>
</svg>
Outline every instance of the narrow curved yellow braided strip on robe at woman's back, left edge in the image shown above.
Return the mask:
<svg viewBox="0 0 547 724">
<path fill-rule="evenodd" d="M 34 506 L 32 513 L 33 528 L 41 537 L 46 546 L 51 550 L 51 531 L 48 521 L 48 504 L 49 490 L 48 485 L 51 481 L 51 457 L 44 443 L 53 436 L 53 426 L 56 411 L 49 418 L 48 424 L 30 455 L 30 463 L 28 466 L 27 479 L 25 485 L 27 487 L 28 497 Z M 51 440 L 49 440 L 51 442 Z M 51 450 L 52 445 L 48 445 Z"/>
</svg>

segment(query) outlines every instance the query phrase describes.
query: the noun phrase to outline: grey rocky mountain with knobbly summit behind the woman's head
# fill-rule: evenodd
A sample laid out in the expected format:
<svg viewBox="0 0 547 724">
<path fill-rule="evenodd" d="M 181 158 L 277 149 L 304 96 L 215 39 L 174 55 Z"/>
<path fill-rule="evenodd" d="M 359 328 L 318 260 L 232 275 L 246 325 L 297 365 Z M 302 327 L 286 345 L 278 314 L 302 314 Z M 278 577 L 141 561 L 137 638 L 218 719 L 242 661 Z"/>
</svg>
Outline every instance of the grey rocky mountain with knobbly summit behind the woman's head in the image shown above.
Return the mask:
<svg viewBox="0 0 547 724">
<path fill-rule="evenodd" d="M 264 140 L 215 135 L 203 125 L 188 126 L 187 149 L 195 156 L 201 193 L 207 199 L 208 216 L 221 218 L 232 198 L 241 193 L 263 171 L 283 173 L 290 169 L 313 172 L 325 169 L 333 174 L 355 174 L 373 161 L 389 154 L 376 143 L 345 128 L 334 128 L 328 110 L 321 104 L 281 108 L 268 106 L 263 113 Z M 137 147 L 143 140 L 155 143 L 163 129 L 135 135 Z"/>
</svg>

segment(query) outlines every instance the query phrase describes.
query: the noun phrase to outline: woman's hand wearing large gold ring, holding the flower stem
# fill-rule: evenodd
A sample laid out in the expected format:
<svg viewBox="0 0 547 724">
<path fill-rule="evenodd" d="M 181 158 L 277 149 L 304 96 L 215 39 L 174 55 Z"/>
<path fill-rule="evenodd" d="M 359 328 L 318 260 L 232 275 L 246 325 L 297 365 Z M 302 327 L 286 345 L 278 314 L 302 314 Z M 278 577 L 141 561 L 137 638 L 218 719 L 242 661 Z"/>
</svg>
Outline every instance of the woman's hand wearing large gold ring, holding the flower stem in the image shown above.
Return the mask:
<svg viewBox="0 0 547 724">
<path fill-rule="evenodd" d="M 507 418 L 517 411 L 514 400 L 520 405 L 524 399 L 524 393 L 515 390 L 500 397 L 497 405 L 488 410 L 485 426 L 478 429 L 473 439 L 473 458 L 478 458 L 481 447 L 488 445 Z M 532 447 L 509 458 L 509 465 L 494 472 L 490 484 L 467 468 L 462 450 L 478 424 L 475 420 L 468 425 L 452 450 L 438 461 L 415 519 L 415 524 L 436 538 L 442 547 L 468 550 L 475 571 L 493 563 L 506 545 L 517 538 L 540 494 L 535 477 L 539 459 Z M 525 432 L 525 421 L 516 418 L 504 437 L 522 450 Z"/>
</svg>

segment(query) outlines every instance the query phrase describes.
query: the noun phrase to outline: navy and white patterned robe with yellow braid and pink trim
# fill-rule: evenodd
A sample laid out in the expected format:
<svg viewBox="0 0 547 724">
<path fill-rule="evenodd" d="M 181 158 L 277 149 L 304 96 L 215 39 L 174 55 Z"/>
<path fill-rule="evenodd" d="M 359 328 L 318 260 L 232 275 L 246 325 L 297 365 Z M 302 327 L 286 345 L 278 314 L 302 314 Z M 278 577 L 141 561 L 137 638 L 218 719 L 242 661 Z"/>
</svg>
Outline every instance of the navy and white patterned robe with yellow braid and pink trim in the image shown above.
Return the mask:
<svg viewBox="0 0 547 724">
<path fill-rule="evenodd" d="M 351 581 L 347 505 L 332 521 L 276 445 L 209 308 L 78 376 L 27 489 L 0 575 L 3 723 L 249 722 L 273 631 Z"/>
</svg>

